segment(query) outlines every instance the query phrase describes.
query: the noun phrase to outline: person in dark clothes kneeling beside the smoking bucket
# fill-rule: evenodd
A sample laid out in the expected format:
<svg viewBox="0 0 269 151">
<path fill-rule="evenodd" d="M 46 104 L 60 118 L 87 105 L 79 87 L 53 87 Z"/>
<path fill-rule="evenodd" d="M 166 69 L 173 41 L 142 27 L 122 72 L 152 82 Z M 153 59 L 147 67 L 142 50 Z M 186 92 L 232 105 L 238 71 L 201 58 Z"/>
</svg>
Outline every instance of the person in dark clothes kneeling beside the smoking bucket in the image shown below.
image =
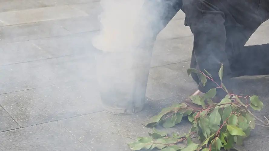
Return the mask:
<svg viewBox="0 0 269 151">
<path fill-rule="evenodd" d="M 150 10 L 144 15 L 150 19 L 147 30 L 153 41 L 180 9 L 185 13 L 185 26 L 194 36 L 190 68 L 205 69 L 220 85 L 218 71 L 222 63 L 222 82 L 229 92 L 233 77 L 269 74 L 269 45 L 244 46 L 268 19 L 269 0 L 145 0 L 142 10 Z M 203 95 L 217 87 L 210 80 L 203 86 L 197 74 L 191 76 L 198 84 L 198 90 L 191 95 Z M 214 100 L 219 102 L 225 95 L 217 89 Z M 189 98 L 184 102 L 195 105 Z"/>
</svg>

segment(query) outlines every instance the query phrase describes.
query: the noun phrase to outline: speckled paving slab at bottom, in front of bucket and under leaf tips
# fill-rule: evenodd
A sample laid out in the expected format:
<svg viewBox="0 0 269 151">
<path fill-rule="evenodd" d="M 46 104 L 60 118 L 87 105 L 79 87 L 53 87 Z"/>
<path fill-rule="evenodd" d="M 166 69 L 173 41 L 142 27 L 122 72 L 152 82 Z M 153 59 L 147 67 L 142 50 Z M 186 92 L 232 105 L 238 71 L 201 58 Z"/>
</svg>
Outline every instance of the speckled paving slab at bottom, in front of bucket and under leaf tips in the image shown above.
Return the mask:
<svg viewBox="0 0 269 151">
<path fill-rule="evenodd" d="M 133 141 L 130 138 L 148 136 L 148 132 L 152 132 L 151 128 L 144 127 L 142 124 L 171 103 L 171 100 L 147 101 L 144 110 L 137 114 L 112 115 L 99 112 L 60 120 L 59 124 L 62 124 L 91 151 L 125 151 L 130 150 L 126 144 Z M 189 122 L 183 120 L 182 124 L 166 131 L 186 133 L 190 126 Z"/>
</svg>

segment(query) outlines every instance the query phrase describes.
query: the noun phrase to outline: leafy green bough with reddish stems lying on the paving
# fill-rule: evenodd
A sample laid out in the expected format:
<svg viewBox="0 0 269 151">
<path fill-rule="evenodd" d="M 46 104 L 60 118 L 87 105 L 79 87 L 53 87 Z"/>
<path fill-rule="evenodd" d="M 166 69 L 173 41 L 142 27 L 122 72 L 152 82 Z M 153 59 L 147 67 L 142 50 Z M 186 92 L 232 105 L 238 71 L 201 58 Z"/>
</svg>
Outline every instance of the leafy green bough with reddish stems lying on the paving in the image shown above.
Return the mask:
<svg viewBox="0 0 269 151">
<path fill-rule="evenodd" d="M 214 81 L 211 75 L 205 70 L 204 72 L 196 69 L 188 69 L 188 76 L 191 72 L 200 76 L 202 84 L 205 86 L 207 79 Z M 242 145 L 246 137 L 250 135 L 250 131 L 255 125 L 269 127 L 269 120 L 266 122 L 256 117 L 248 109 L 261 111 L 263 108 L 262 101 L 258 96 L 238 96 L 230 94 L 222 83 L 223 65 L 218 72 L 221 80 L 221 88 L 227 92 L 225 98 L 220 103 L 213 103 L 212 98 L 216 95 L 216 89 L 210 89 L 203 96 L 190 96 L 193 103 L 201 105 L 201 108 L 192 108 L 184 103 L 174 103 L 168 108 L 153 116 L 145 126 L 153 127 L 153 133 L 149 133 L 149 137 L 138 137 L 136 141 L 128 143 L 132 150 L 152 150 L 154 148 L 161 151 L 219 151 L 221 148 L 230 150 L 236 143 Z M 240 99 L 245 99 L 246 103 L 242 103 Z M 206 103 L 207 102 L 207 103 Z M 249 104 L 248 104 L 249 102 Z M 194 112 L 195 110 L 198 110 Z M 157 131 L 154 126 L 161 124 L 165 128 L 170 128 L 179 124 L 182 117 L 188 117 L 192 122 L 192 127 L 188 134 L 179 136 L 172 133 L 172 136 L 165 132 Z M 255 119 L 261 124 L 255 124 Z M 196 136 L 195 136 L 196 135 Z M 194 137 L 195 136 L 195 137 Z M 196 138 L 200 143 L 194 143 L 192 140 Z M 187 146 L 183 146 L 180 142 L 187 141 Z"/>
</svg>

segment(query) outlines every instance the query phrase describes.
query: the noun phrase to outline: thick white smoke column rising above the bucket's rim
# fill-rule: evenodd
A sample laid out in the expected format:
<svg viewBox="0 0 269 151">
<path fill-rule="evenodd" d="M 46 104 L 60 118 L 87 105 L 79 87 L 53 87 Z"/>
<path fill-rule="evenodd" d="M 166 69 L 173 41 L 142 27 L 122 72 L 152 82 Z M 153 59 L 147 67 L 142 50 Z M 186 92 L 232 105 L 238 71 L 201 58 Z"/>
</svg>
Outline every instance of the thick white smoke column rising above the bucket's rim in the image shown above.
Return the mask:
<svg viewBox="0 0 269 151">
<path fill-rule="evenodd" d="M 99 18 L 102 26 L 93 45 L 103 51 L 122 51 L 138 43 L 138 33 L 143 29 L 137 30 L 136 26 L 143 1 L 100 0 L 103 12 Z"/>
</svg>

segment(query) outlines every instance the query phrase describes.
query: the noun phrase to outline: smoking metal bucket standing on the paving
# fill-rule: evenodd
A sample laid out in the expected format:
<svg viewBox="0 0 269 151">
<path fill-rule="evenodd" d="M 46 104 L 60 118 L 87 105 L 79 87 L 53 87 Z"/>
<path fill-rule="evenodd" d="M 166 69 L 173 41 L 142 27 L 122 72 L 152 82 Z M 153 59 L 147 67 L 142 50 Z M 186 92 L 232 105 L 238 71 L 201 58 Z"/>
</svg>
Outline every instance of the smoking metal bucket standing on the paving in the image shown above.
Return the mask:
<svg viewBox="0 0 269 151">
<path fill-rule="evenodd" d="M 95 60 L 104 111 L 126 115 L 143 109 L 151 50 L 98 51 Z"/>
</svg>

